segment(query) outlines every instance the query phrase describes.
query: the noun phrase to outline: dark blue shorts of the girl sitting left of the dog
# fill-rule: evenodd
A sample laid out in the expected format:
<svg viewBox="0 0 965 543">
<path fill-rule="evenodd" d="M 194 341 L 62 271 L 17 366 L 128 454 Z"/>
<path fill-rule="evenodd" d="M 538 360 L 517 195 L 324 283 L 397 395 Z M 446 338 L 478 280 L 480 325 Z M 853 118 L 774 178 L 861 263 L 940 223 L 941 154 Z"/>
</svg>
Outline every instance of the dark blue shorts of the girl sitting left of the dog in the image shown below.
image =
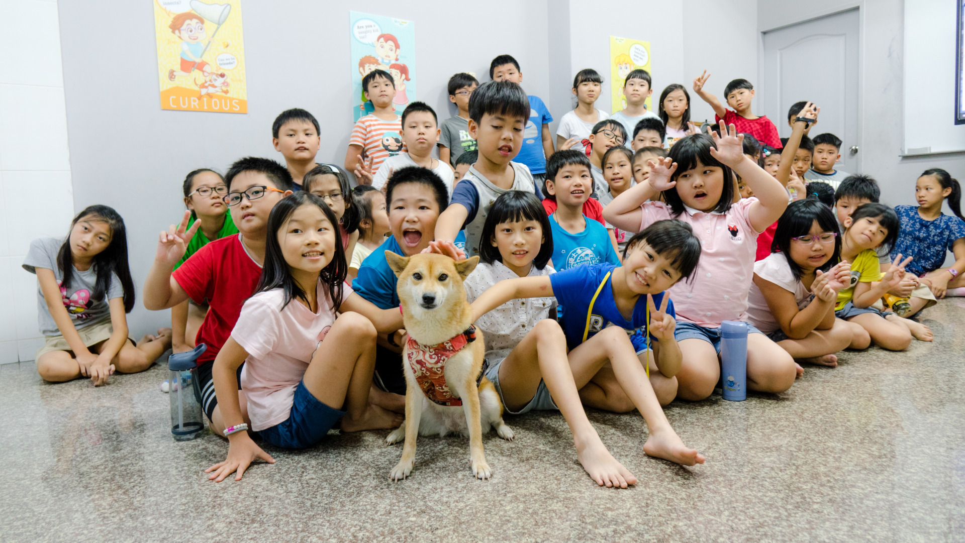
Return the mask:
<svg viewBox="0 0 965 543">
<path fill-rule="evenodd" d="M 275 447 L 309 448 L 317 445 L 344 416 L 345 411 L 332 409 L 318 401 L 302 381 L 295 388 L 288 420 L 259 430 L 258 435 Z"/>
</svg>

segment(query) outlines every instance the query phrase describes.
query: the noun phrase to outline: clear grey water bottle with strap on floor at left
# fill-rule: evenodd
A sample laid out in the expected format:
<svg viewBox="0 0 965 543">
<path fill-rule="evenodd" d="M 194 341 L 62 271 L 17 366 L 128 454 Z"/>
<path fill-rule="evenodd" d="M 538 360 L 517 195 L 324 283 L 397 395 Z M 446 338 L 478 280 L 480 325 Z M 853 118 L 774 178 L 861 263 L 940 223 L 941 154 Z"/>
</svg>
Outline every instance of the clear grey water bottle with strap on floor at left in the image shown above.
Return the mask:
<svg viewBox="0 0 965 543">
<path fill-rule="evenodd" d="M 171 387 L 171 434 L 176 441 L 193 440 L 205 431 L 201 401 L 195 391 L 198 377 L 195 367 L 198 357 L 206 349 L 207 345 L 201 343 L 190 351 L 168 357 L 168 369 L 171 370 L 168 381 Z"/>
</svg>

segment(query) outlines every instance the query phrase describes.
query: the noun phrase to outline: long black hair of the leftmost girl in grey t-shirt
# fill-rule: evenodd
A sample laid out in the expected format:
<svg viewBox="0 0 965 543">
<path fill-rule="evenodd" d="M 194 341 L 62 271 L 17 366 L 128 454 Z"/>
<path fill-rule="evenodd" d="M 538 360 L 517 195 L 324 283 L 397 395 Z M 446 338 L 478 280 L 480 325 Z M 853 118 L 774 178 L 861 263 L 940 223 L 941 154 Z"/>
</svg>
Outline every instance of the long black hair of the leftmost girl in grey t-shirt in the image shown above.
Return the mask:
<svg viewBox="0 0 965 543">
<path fill-rule="evenodd" d="M 111 242 L 107 248 L 95 255 L 94 270 L 96 271 L 96 283 L 91 300 L 98 301 L 107 294 L 107 288 L 111 283 L 111 274 L 118 276 L 121 286 L 124 289 L 124 312 L 134 309 L 134 281 L 130 278 L 130 266 L 127 264 L 127 231 L 124 228 L 124 219 L 107 205 L 90 205 L 77 214 L 70 222 L 70 231 L 81 220 L 99 221 L 107 223 L 111 229 Z M 73 254 L 70 253 L 70 232 L 67 239 L 57 252 L 57 266 L 64 274 L 62 285 L 69 287 L 70 280 L 73 279 Z"/>
</svg>

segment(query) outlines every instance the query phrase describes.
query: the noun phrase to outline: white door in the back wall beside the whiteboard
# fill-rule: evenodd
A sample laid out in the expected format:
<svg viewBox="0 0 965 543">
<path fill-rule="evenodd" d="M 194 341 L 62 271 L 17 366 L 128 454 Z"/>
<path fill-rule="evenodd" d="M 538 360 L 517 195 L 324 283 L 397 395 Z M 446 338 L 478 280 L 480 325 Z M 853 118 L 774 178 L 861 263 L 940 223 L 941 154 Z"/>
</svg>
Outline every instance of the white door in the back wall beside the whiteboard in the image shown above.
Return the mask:
<svg viewBox="0 0 965 543">
<path fill-rule="evenodd" d="M 787 110 L 794 102 L 820 106 L 810 136 L 831 132 L 841 138 L 836 169 L 849 174 L 861 172 L 858 33 L 857 9 L 765 32 L 758 93 L 758 107 L 782 138 L 790 135 Z"/>
</svg>

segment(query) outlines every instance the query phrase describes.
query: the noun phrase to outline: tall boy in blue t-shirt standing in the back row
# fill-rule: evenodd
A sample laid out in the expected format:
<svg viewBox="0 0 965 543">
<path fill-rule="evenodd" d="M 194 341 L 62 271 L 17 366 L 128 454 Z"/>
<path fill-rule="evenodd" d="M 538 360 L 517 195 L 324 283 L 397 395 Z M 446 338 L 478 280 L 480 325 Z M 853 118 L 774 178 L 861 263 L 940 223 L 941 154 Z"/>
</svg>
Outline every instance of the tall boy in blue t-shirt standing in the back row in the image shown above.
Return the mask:
<svg viewBox="0 0 965 543">
<path fill-rule="evenodd" d="M 523 83 L 523 71 L 519 63 L 510 55 L 500 55 L 489 63 L 489 79 L 493 81 L 512 81 L 517 85 Z M 546 158 L 553 154 L 553 136 L 549 131 L 549 123 L 553 116 L 549 114 L 546 104 L 537 95 L 527 95 L 530 99 L 529 121 L 523 131 L 523 147 L 519 150 L 519 161 L 525 164 L 537 182 L 546 175 Z"/>
</svg>

